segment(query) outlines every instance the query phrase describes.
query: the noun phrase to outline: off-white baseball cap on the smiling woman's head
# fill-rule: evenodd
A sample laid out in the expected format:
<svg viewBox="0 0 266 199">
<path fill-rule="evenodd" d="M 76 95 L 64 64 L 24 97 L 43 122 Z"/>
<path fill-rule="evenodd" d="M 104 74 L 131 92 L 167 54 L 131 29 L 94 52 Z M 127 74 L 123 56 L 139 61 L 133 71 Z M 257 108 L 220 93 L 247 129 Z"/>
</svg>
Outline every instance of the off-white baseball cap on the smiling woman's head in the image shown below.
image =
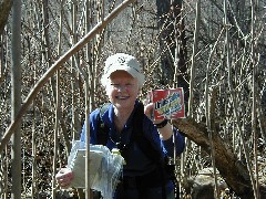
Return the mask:
<svg viewBox="0 0 266 199">
<path fill-rule="evenodd" d="M 102 84 L 106 84 L 106 80 L 115 71 L 125 71 L 134 78 L 137 78 L 142 87 L 145 81 L 145 75 L 142 73 L 140 62 L 132 55 L 125 53 L 116 53 L 109 56 L 105 61 Z"/>
</svg>

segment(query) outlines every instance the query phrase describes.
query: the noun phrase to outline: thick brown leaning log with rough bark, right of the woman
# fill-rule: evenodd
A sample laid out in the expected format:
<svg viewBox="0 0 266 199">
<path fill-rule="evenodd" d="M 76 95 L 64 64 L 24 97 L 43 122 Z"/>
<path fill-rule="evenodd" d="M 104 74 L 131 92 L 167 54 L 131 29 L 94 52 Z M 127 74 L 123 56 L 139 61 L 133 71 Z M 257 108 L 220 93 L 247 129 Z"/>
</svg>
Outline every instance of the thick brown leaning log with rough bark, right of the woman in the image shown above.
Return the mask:
<svg viewBox="0 0 266 199">
<path fill-rule="evenodd" d="M 196 123 L 191 118 L 173 119 L 173 125 L 183 132 L 184 136 L 201 146 L 211 155 L 208 132 L 205 125 Z M 246 165 L 241 163 L 233 154 L 231 146 L 222 139 L 218 134 L 213 134 L 213 148 L 215 150 L 215 163 L 219 174 L 226 184 L 242 199 L 254 198 L 253 186 Z M 260 187 L 260 198 L 266 197 L 266 187 Z"/>
</svg>

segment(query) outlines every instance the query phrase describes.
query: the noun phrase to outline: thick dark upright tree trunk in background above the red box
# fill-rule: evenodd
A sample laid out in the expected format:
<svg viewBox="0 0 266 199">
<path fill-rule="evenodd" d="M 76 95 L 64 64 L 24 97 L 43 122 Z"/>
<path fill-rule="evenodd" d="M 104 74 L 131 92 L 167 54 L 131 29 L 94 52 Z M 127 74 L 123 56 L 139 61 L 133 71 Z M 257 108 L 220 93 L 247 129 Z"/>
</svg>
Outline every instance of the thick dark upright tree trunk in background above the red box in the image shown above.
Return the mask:
<svg viewBox="0 0 266 199">
<path fill-rule="evenodd" d="M 184 32 L 184 19 L 182 18 L 182 0 L 156 0 L 158 28 L 161 30 L 160 48 L 165 52 L 161 57 L 162 77 L 174 80 L 174 87 L 184 88 L 184 100 L 188 101 L 188 76 L 184 76 L 187 71 L 186 65 L 186 40 Z M 183 74 L 183 75 L 182 75 Z M 174 75 L 174 76 L 173 76 Z"/>
</svg>

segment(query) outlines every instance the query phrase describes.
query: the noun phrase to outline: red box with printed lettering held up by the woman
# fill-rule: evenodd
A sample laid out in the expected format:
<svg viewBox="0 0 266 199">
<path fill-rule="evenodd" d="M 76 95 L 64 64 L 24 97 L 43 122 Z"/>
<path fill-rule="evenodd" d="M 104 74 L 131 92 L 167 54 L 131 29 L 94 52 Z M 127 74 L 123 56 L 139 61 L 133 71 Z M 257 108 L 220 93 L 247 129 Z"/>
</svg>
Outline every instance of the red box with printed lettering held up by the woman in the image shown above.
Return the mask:
<svg viewBox="0 0 266 199">
<path fill-rule="evenodd" d="M 154 119 L 185 117 L 183 87 L 153 90 L 149 93 L 149 98 L 154 104 Z"/>
</svg>

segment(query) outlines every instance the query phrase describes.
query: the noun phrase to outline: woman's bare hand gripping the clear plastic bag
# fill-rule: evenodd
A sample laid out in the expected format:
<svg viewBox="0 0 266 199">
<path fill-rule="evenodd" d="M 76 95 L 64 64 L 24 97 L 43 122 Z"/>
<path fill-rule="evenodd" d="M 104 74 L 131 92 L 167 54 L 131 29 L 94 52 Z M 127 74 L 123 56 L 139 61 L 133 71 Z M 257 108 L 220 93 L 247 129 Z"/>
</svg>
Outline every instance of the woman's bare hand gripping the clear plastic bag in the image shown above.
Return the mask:
<svg viewBox="0 0 266 199">
<path fill-rule="evenodd" d="M 73 180 L 74 175 L 71 169 L 62 168 L 57 175 L 55 180 L 59 184 L 60 188 L 68 189 L 70 188 L 71 181 Z"/>
</svg>

